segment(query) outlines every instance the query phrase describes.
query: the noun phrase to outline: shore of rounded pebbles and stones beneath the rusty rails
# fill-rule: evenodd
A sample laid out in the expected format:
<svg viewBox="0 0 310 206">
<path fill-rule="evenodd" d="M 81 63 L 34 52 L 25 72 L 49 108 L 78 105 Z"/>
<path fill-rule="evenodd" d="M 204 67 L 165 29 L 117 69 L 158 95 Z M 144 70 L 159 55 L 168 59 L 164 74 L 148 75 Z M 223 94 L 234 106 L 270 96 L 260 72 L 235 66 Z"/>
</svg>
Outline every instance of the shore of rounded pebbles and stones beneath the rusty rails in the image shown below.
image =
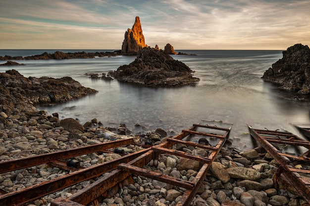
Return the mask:
<svg viewBox="0 0 310 206">
<path fill-rule="evenodd" d="M 57 114 L 47 116 L 45 111 L 33 110 L 28 115 L 0 112 L 0 117 L 11 123 L 0 130 L 0 162 L 135 136 L 125 135 L 128 130 L 125 124 L 108 128 L 93 119 L 82 125 L 71 118 L 60 120 Z M 166 135 L 158 128 L 146 134 L 140 133 L 139 137 L 143 142 L 152 141 L 156 145 L 165 141 Z M 130 154 L 143 148 L 127 145 L 119 149 Z M 201 156 L 208 154 L 207 150 L 184 145 L 176 149 Z M 92 153 L 76 157 L 76 160 L 81 166 L 88 167 L 119 157 L 115 153 Z M 165 154 L 160 155 L 157 164 L 151 161 L 147 167 L 191 181 L 198 172 L 199 163 Z M 261 147 L 243 152 L 222 149 L 210 166 L 192 206 L 307 206 L 284 179 L 276 181 L 273 178 L 277 169 L 277 162 Z M 6 172 L 0 174 L 0 189 L 14 192 L 68 172 L 47 164 Z M 28 206 L 48 206 L 57 197 L 67 198 L 94 181 L 58 191 Z M 124 180 L 121 187 L 109 191 L 99 206 L 174 206 L 184 191 L 183 188 L 133 175 Z"/>
</svg>

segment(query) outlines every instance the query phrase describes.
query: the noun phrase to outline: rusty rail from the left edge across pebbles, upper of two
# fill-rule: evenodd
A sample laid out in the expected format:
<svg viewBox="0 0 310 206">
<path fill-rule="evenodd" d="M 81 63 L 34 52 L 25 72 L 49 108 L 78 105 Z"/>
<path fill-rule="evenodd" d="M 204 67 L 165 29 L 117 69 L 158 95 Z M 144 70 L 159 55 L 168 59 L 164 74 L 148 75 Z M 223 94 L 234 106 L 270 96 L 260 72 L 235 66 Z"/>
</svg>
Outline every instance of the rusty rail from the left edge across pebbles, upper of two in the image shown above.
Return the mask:
<svg viewBox="0 0 310 206">
<path fill-rule="evenodd" d="M 34 157 L 21 158 L 11 161 L 6 161 L 0 163 L 0 173 L 13 171 L 17 169 L 27 168 L 35 165 L 46 164 L 55 160 L 63 160 L 71 157 L 76 157 L 80 155 L 85 155 L 97 151 L 101 151 L 108 148 L 119 147 L 121 145 L 127 145 L 134 142 L 134 137 L 130 137 L 128 139 L 115 140 L 111 142 L 104 142 L 102 144 L 96 144 L 85 147 L 78 147 L 74 149 L 57 151 L 46 153 L 42 155 L 37 155 Z"/>
</svg>

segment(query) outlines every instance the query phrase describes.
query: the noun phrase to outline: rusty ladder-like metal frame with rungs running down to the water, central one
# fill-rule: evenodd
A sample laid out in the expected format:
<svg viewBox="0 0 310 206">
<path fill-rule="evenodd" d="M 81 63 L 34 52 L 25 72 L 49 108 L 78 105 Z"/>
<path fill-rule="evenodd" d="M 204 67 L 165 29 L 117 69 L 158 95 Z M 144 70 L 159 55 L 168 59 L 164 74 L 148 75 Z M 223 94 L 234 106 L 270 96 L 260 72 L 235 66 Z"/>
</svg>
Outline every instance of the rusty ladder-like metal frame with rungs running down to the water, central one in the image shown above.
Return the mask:
<svg viewBox="0 0 310 206">
<path fill-rule="evenodd" d="M 208 121 L 208 122 L 212 124 L 222 124 L 221 121 L 220 122 Z M 151 179 L 155 179 L 158 181 L 162 181 L 168 184 L 185 188 L 186 190 L 183 193 L 183 196 L 180 199 L 180 201 L 176 203 L 176 206 L 189 206 L 193 198 L 195 197 L 197 191 L 199 190 L 201 184 L 203 183 L 211 163 L 214 161 L 221 147 L 224 145 L 226 138 L 228 138 L 232 124 L 230 123 L 223 123 L 223 124 L 227 124 L 228 126 L 224 128 L 224 127 L 217 127 L 216 125 L 209 126 L 207 124 L 193 124 L 192 127 L 186 130 L 182 130 L 182 132 L 177 134 L 176 136 L 172 138 L 167 138 L 166 142 L 149 148 L 150 150 L 148 152 L 142 154 L 136 159 L 128 163 L 119 164 L 117 166 L 117 169 L 111 171 L 108 175 L 105 175 L 103 178 L 97 180 L 88 187 L 73 194 L 68 199 L 58 198 L 54 200 L 53 202 L 51 202 L 51 206 L 80 206 L 80 204 L 88 205 L 91 202 L 95 201 L 100 196 L 102 196 L 103 193 L 105 193 L 106 191 L 110 190 L 112 187 L 117 185 L 119 182 L 126 179 L 131 174 L 145 176 Z M 195 131 L 199 127 L 208 128 L 212 130 L 222 130 L 224 131 L 224 134 L 216 135 L 213 133 Z M 212 147 L 182 140 L 191 134 L 202 135 L 204 137 L 217 138 L 219 139 L 219 141 L 216 144 L 216 146 Z M 181 143 L 189 146 L 197 146 L 200 148 L 208 149 L 211 152 L 207 158 L 203 158 L 200 156 L 189 155 L 180 151 L 171 150 L 170 148 L 176 143 Z M 176 156 L 197 160 L 200 162 L 202 166 L 192 182 L 174 178 L 168 175 L 164 175 L 162 173 L 142 168 L 144 165 L 148 164 L 151 160 L 158 158 L 159 153 L 169 153 L 174 154 Z"/>
</svg>

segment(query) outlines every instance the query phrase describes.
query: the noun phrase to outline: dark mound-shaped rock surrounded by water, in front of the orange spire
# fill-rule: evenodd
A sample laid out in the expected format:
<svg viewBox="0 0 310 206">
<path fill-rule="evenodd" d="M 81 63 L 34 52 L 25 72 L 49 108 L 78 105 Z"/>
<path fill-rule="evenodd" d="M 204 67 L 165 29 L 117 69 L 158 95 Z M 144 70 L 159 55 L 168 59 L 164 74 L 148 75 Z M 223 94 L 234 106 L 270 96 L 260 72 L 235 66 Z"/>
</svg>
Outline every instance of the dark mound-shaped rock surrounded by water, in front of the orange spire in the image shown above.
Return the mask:
<svg viewBox="0 0 310 206">
<path fill-rule="evenodd" d="M 146 86 L 195 85 L 199 79 L 183 62 L 155 48 L 143 48 L 129 65 L 120 66 L 110 75 L 121 82 Z"/>
</svg>

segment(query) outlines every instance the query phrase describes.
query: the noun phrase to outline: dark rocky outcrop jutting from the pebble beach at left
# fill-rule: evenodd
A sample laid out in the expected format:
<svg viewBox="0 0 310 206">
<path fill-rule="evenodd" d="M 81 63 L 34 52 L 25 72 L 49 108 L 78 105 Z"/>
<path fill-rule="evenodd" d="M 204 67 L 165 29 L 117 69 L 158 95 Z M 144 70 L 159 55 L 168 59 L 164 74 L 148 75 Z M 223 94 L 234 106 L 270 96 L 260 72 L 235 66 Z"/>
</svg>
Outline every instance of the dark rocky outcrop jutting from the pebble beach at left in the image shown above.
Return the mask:
<svg viewBox="0 0 310 206">
<path fill-rule="evenodd" d="M 33 110 L 34 104 L 66 102 L 97 92 L 70 77 L 25 78 L 16 70 L 0 73 L 0 112 L 11 114 L 20 108 Z"/>
</svg>

